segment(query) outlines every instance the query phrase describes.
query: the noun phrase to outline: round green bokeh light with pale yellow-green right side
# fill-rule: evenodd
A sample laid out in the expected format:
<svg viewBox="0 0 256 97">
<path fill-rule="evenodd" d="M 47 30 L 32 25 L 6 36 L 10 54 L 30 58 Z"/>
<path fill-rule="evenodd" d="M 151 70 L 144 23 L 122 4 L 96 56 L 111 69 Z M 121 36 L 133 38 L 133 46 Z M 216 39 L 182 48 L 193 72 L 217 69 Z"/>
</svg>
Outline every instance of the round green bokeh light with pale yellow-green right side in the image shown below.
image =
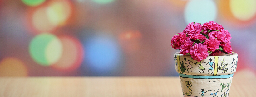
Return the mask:
<svg viewBox="0 0 256 97">
<path fill-rule="evenodd" d="M 57 62 L 62 55 L 62 43 L 52 34 L 37 35 L 29 44 L 29 53 L 33 60 L 42 66 Z"/>
</svg>

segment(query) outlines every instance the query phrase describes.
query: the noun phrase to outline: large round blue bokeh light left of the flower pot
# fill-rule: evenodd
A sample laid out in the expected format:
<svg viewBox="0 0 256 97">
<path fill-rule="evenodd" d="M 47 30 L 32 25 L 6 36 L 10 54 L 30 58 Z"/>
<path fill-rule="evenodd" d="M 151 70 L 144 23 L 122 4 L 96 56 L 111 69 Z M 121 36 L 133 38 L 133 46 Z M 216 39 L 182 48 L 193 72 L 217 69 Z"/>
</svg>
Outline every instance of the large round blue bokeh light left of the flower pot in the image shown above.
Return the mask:
<svg viewBox="0 0 256 97">
<path fill-rule="evenodd" d="M 86 62 L 95 72 L 111 72 L 121 61 L 120 47 L 108 35 L 99 35 L 85 44 Z"/>
</svg>

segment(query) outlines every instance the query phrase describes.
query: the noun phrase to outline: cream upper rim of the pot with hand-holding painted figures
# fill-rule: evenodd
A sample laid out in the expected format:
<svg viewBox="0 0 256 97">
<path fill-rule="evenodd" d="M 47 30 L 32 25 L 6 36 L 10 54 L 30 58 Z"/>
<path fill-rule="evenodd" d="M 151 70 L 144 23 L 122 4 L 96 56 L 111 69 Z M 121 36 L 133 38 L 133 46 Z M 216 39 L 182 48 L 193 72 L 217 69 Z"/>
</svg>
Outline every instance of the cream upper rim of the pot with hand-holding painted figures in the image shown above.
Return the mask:
<svg viewBox="0 0 256 97">
<path fill-rule="evenodd" d="M 176 58 L 176 56 L 177 56 L 177 61 L 175 61 L 175 70 L 176 70 L 176 72 L 178 72 L 178 73 L 181 73 L 181 74 L 185 74 L 185 75 L 198 75 L 198 76 L 216 76 L 216 75 L 229 75 L 229 74 L 233 74 L 235 71 L 236 71 L 236 66 L 237 66 L 237 64 L 233 64 L 233 66 L 231 65 L 231 63 L 229 64 L 229 62 L 234 62 L 234 60 L 233 61 L 231 61 L 232 60 L 232 58 L 233 59 L 236 59 L 236 62 L 237 62 L 237 59 L 238 59 L 238 54 L 237 53 L 234 53 L 234 52 L 232 52 L 232 55 L 219 55 L 219 56 L 207 56 L 207 58 L 206 59 L 203 59 L 202 61 L 199 61 L 199 63 L 197 63 L 198 61 L 196 61 L 196 60 L 193 60 L 192 58 L 191 58 L 191 55 L 182 55 L 182 54 L 180 54 L 180 52 L 176 52 L 175 54 L 174 54 L 174 56 L 175 56 L 175 58 Z M 183 60 L 183 58 L 191 58 L 192 60 L 193 60 L 193 62 L 192 62 L 192 64 L 190 64 L 190 67 L 188 67 L 189 65 L 186 65 L 187 67 L 186 68 L 190 68 L 190 70 L 191 70 L 191 68 L 195 68 L 194 70 L 197 70 L 197 71 L 199 71 L 199 72 L 192 72 L 192 70 L 191 70 L 191 72 L 190 71 L 188 71 L 188 69 L 187 70 L 183 70 L 184 68 L 182 68 L 182 71 L 181 71 L 181 67 L 180 66 L 182 66 L 183 65 L 183 62 L 184 62 L 184 60 Z M 208 59 L 215 59 L 214 61 L 213 61 L 213 64 L 210 66 L 210 64 L 209 65 L 207 65 L 208 63 Z M 231 70 L 231 72 L 227 72 L 227 70 L 228 70 L 228 68 L 226 69 L 226 67 L 224 68 L 224 69 L 226 69 L 226 72 L 218 72 L 219 70 L 217 69 L 218 68 L 218 66 L 222 66 L 222 65 L 220 65 L 220 63 L 223 63 L 223 62 L 221 62 L 222 60 L 224 61 L 224 58 L 226 59 L 225 61 L 227 61 L 227 60 L 229 60 L 229 61 L 227 61 L 227 63 L 229 64 L 228 65 L 228 68 L 230 68 L 231 67 L 231 69 L 229 69 L 229 70 Z M 186 60 L 186 59 L 185 59 Z M 188 59 L 189 60 L 189 59 Z M 189 62 L 191 62 L 192 60 L 190 60 Z M 182 63 L 181 63 L 182 62 Z M 185 61 L 186 62 L 186 61 Z M 202 64 L 202 62 L 203 62 L 203 64 Z M 209 61 L 210 62 L 210 61 Z M 180 64 L 182 64 L 182 65 L 180 65 Z M 185 63 L 185 64 L 188 64 L 188 63 Z M 193 64 L 197 64 L 197 66 L 196 67 L 194 67 L 194 65 Z M 205 65 L 206 64 L 206 65 Z M 226 63 L 225 63 L 226 64 Z M 191 66 L 192 65 L 192 66 Z M 199 66 L 200 65 L 200 66 Z M 201 67 L 202 66 L 202 67 Z M 205 67 L 206 66 L 206 67 Z M 210 73 L 207 69 L 205 69 L 205 68 L 208 68 L 209 67 L 209 70 L 211 70 L 211 72 L 212 73 Z M 210 69 L 212 67 L 212 69 Z M 224 67 L 224 65 L 223 65 L 223 67 Z M 234 70 L 234 67 L 235 67 L 235 70 Z M 185 68 L 185 69 L 186 69 Z M 196 69 L 196 68 L 198 68 L 198 69 Z M 201 68 L 201 69 L 200 69 Z M 232 71 L 232 69 L 233 69 L 233 71 Z M 193 71 L 194 71 L 193 70 Z M 200 71 L 201 70 L 201 71 Z M 210 74 L 205 74 L 204 72 L 204 70 L 207 70 Z M 187 71 L 187 72 L 186 72 Z M 202 72 L 202 73 L 201 73 Z"/>
</svg>

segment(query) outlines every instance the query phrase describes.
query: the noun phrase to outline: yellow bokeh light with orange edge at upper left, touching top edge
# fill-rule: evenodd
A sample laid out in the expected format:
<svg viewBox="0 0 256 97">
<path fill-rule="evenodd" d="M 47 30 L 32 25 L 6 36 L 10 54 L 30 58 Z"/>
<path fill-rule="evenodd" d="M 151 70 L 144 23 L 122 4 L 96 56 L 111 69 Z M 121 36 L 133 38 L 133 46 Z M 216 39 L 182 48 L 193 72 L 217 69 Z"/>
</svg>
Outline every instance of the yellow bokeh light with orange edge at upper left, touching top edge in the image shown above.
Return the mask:
<svg viewBox="0 0 256 97">
<path fill-rule="evenodd" d="M 63 26 L 71 16 L 71 3 L 67 0 L 53 0 L 47 7 L 47 17 L 52 25 Z"/>
</svg>

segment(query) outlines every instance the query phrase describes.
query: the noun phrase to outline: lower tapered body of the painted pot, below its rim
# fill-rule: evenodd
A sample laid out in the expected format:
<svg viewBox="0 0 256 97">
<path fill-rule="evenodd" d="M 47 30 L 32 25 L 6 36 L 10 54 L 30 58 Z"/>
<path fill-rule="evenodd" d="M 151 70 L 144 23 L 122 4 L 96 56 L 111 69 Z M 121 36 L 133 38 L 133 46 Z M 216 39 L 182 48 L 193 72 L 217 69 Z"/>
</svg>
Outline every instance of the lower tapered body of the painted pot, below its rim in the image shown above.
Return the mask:
<svg viewBox="0 0 256 97">
<path fill-rule="evenodd" d="M 190 77 L 190 78 L 189 78 Z M 180 83 L 184 97 L 228 97 L 232 76 L 219 78 L 180 75 Z M 221 78 L 220 78 L 221 77 Z"/>
</svg>

